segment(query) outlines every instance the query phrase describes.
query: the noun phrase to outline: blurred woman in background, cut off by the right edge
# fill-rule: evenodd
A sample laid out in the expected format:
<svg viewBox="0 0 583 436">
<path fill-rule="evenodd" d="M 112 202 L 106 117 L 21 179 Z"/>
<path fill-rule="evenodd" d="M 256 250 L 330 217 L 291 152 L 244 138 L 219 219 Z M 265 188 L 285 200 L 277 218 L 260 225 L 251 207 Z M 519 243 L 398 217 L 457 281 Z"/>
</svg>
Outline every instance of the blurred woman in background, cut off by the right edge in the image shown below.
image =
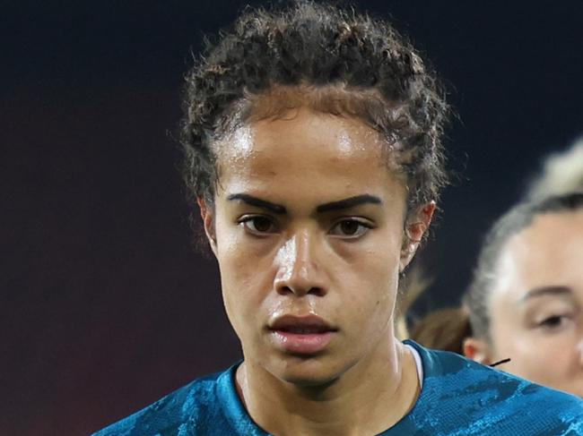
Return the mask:
<svg viewBox="0 0 583 436">
<path fill-rule="evenodd" d="M 494 224 L 462 300 L 410 338 L 583 397 L 583 141 Z"/>
</svg>

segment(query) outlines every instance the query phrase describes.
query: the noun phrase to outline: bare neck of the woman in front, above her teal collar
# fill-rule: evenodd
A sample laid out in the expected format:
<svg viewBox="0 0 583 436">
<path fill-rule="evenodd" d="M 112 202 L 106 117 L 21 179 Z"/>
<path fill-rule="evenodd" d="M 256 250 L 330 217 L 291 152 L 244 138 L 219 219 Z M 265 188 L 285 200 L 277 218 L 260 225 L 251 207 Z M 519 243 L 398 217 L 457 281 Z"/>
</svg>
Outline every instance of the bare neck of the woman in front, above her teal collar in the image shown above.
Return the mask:
<svg viewBox="0 0 583 436">
<path fill-rule="evenodd" d="M 378 434 L 413 407 L 419 380 L 413 356 L 391 336 L 369 358 L 322 386 L 297 386 L 246 361 L 237 372 L 249 415 L 277 435 Z"/>
</svg>

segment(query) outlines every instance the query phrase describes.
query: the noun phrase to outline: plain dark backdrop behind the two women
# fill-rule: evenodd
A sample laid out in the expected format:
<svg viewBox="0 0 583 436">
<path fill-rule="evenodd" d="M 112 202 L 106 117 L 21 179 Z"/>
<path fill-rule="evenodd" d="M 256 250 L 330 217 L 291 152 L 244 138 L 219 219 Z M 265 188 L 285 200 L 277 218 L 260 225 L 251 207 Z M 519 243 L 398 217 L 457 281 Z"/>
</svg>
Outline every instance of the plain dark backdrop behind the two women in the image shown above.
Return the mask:
<svg viewBox="0 0 583 436">
<path fill-rule="evenodd" d="M 169 132 L 191 50 L 243 4 L 0 2 L 0 434 L 87 434 L 238 358 Z M 583 133 L 583 2 L 361 4 L 459 115 L 421 314 L 457 302 L 492 218 Z"/>
</svg>

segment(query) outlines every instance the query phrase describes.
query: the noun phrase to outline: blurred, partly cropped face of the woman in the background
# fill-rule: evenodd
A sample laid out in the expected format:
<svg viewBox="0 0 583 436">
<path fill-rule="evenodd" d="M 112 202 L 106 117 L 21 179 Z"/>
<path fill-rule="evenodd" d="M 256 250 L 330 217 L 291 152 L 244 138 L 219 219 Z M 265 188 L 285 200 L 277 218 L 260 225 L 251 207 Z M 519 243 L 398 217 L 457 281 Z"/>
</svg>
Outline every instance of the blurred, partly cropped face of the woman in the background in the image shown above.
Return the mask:
<svg viewBox="0 0 583 436">
<path fill-rule="evenodd" d="M 501 253 L 492 360 L 583 397 L 583 211 L 539 215 Z"/>
</svg>

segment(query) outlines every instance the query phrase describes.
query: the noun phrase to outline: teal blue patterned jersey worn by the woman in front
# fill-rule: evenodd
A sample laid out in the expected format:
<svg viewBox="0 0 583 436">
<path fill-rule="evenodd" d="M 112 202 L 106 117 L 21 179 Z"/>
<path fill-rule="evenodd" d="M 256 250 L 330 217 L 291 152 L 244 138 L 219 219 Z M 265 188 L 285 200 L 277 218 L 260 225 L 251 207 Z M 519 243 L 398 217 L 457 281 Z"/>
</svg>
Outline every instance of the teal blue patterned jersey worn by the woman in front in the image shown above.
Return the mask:
<svg viewBox="0 0 583 436">
<path fill-rule="evenodd" d="M 580 398 L 405 343 L 421 355 L 422 391 L 413 409 L 382 435 L 583 435 Z M 239 399 L 237 366 L 194 380 L 94 436 L 266 435 Z"/>
</svg>

